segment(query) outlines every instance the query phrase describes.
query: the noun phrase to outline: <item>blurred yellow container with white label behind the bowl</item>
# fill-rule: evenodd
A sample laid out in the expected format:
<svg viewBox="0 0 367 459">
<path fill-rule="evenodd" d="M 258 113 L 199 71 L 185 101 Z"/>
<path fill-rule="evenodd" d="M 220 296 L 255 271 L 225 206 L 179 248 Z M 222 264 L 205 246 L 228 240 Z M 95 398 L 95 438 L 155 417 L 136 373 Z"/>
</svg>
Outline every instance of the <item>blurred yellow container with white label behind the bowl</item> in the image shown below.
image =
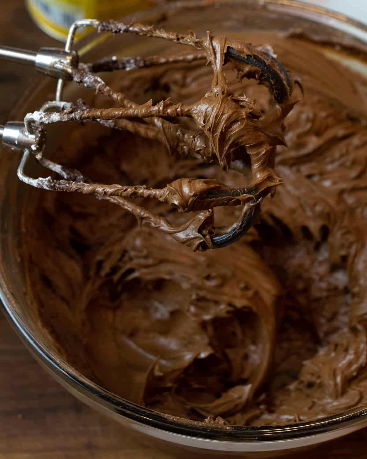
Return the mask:
<svg viewBox="0 0 367 459">
<path fill-rule="evenodd" d="M 27 0 L 38 26 L 52 37 L 65 40 L 69 27 L 78 19 L 118 19 L 154 6 L 152 0 Z M 90 29 L 90 28 L 89 28 Z M 90 30 L 76 34 L 81 38 Z"/>
</svg>

